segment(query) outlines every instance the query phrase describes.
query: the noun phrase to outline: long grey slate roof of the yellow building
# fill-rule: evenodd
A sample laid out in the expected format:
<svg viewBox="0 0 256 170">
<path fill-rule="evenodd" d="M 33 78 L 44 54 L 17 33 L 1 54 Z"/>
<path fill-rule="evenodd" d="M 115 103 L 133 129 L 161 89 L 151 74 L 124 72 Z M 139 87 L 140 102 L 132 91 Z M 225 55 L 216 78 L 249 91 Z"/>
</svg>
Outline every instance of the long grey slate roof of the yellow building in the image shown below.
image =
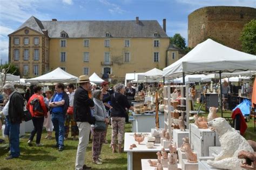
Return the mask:
<svg viewBox="0 0 256 170">
<path fill-rule="evenodd" d="M 60 38 L 60 32 L 68 33 L 69 38 L 105 38 L 108 31 L 113 38 L 153 38 L 157 31 L 159 38 L 167 38 L 163 28 L 155 20 L 136 21 L 39 21 L 31 16 L 19 28 L 25 26 L 43 33 L 48 30 L 50 38 Z M 17 31 L 17 30 L 16 30 Z"/>
</svg>

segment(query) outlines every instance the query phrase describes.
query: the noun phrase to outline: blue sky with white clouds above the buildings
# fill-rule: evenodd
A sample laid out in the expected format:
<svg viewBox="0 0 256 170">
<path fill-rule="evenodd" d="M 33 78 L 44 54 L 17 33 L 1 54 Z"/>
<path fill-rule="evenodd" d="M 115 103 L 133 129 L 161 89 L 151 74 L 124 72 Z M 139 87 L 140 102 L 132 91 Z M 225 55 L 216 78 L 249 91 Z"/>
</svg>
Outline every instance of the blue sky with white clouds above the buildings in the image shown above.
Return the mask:
<svg viewBox="0 0 256 170">
<path fill-rule="evenodd" d="M 0 0 L 0 59 L 8 61 L 8 34 L 31 16 L 41 21 L 157 20 L 166 33 L 180 33 L 187 43 L 187 17 L 204 6 L 249 6 L 256 0 Z"/>
</svg>

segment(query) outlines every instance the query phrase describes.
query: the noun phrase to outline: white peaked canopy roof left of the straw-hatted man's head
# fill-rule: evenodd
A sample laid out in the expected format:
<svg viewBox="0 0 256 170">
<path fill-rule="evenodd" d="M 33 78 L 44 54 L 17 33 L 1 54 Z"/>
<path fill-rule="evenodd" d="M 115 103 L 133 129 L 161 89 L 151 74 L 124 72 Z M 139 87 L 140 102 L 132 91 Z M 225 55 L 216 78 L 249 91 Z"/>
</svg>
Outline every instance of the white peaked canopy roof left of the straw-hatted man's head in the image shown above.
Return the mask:
<svg viewBox="0 0 256 170">
<path fill-rule="evenodd" d="M 26 79 L 25 82 L 29 83 L 68 83 L 68 82 L 77 82 L 78 78 L 72 74 L 65 72 L 64 70 L 58 67 L 57 69 L 44 74 L 39 77 Z"/>
</svg>

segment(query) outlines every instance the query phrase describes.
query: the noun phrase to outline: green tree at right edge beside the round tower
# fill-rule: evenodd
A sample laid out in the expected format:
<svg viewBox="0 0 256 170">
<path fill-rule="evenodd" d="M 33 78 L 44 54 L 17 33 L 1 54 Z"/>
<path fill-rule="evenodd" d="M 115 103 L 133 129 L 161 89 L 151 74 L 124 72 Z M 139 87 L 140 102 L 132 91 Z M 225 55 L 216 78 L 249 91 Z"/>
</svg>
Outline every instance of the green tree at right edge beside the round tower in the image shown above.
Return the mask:
<svg viewBox="0 0 256 170">
<path fill-rule="evenodd" d="M 240 35 L 240 40 L 242 51 L 256 55 L 256 19 L 245 24 Z"/>
</svg>

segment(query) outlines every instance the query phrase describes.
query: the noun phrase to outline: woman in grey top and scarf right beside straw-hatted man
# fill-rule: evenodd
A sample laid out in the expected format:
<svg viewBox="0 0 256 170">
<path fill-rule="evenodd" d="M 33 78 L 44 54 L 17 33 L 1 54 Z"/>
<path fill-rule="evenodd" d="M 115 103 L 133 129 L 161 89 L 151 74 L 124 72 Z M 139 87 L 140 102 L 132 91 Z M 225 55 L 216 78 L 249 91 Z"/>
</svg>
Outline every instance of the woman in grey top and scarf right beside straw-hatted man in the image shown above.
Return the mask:
<svg viewBox="0 0 256 170">
<path fill-rule="evenodd" d="M 97 129 L 96 125 L 93 129 L 93 141 L 92 141 L 92 159 L 95 162 L 95 164 L 102 164 L 101 160 L 99 158 L 100 152 L 102 150 L 102 144 L 105 139 L 105 131 L 106 131 L 106 123 L 109 121 L 108 115 L 106 115 L 106 109 L 105 105 L 102 102 L 103 99 L 103 92 L 101 90 L 95 90 L 93 92 L 93 101 L 95 103 L 95 112 L 94 116 L 96 119 L 96 123 L 101 122 L 103 125 L 105 125 L 104 129 Z"/>
</svg>

